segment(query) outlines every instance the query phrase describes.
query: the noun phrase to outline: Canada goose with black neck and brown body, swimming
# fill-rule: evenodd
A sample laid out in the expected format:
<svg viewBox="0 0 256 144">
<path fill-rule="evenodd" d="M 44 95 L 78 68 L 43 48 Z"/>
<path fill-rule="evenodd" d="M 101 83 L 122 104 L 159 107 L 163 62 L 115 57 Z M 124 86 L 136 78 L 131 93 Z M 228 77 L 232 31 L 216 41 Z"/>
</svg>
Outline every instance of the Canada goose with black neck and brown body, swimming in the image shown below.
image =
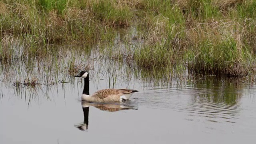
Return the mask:
<svg viewBox="0 0 256 144">
<path fill-rule="evenodd" d="M 75 77 L 84 78 L 84 90 L 82 94 L 83 101 L 89 102 L 123 102 L 128 100 L 134 92 L 138 90 L 129 90 L 129 89 L 104 89 L 98 90 L 90 96 L 89 94 L 89 73 L 88 71 L 81 71 Z"/>
</svg>

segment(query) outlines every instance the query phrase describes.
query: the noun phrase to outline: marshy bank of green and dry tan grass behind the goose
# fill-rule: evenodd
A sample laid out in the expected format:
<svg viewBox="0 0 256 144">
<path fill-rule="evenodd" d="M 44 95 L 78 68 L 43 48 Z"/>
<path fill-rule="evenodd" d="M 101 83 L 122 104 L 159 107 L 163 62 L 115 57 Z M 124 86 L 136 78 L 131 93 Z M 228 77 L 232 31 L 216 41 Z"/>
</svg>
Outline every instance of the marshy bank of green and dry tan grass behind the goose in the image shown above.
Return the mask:
<svg viewBox="0 0 256 144">
<path fill-rule="evenodd" d="M 2 0 L 0 61 L 100 49 L 140 69 L 247 76 L 255 14 L 256 0 Z"/>
</svg>

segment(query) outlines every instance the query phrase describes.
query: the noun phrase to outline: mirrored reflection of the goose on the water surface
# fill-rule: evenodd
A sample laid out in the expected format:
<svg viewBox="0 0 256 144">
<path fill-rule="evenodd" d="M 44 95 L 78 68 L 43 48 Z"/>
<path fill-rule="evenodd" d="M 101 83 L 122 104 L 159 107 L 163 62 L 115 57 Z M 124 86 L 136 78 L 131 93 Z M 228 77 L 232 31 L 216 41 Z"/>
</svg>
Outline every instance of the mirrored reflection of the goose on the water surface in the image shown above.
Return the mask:
<svg viewBox="0 0 256 144">
<path fill-rule="evenodd" d="M 79 130 L 83 130 L 83 131 L 88 130 L 90 106 L 94 106 L 95 108 L 98 108 L 102 111 L 108 111 L 108 112 L 117 112 L 120 110 L 138 110 L 138 105 L 130 102 L 129 100 L 126 102 L 108 102 L 108 103 L 82 101 L 81 104 L 84 112 L 84 122 L 81 122 L 80 124 L 75 124 L 74 126 Z"/>
</svg>

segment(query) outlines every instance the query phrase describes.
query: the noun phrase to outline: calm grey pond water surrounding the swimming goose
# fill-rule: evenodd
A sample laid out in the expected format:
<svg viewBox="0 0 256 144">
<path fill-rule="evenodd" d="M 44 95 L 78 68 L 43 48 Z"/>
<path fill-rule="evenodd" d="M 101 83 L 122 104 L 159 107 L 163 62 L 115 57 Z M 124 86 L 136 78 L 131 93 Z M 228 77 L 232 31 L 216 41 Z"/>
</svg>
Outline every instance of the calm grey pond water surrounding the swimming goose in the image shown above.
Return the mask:
<svg viewBox="0 0 256 144">
<path fill-rule="evenodd" d="M 2 82 L 0 144 L 254 142 L 255 86 L 229 79 L 164 85 L 123 76 L 91 71 L 90 93 L 139 91 L 130 101 L 107 104 L 82 103 L 81 79 L 18 89 Z"/>
</svg>

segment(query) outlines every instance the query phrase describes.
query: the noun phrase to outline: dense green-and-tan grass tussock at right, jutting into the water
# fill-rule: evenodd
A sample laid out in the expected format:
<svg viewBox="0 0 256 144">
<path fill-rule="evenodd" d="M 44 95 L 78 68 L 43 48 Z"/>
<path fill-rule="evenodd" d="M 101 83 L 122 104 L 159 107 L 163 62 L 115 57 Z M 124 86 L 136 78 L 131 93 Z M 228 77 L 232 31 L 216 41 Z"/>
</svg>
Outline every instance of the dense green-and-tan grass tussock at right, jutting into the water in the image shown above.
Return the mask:
<svg viewBox="0 0 256 144">
<path fill-rule="evenodd" d="M 238 26 L 234 21 L 214 21 L 188 30 L 193 44 L 187 53 L 188 67 L 204 74 L 249 74 L 253 53 L 242 43 L 243 30 Z"/>
</svg>

